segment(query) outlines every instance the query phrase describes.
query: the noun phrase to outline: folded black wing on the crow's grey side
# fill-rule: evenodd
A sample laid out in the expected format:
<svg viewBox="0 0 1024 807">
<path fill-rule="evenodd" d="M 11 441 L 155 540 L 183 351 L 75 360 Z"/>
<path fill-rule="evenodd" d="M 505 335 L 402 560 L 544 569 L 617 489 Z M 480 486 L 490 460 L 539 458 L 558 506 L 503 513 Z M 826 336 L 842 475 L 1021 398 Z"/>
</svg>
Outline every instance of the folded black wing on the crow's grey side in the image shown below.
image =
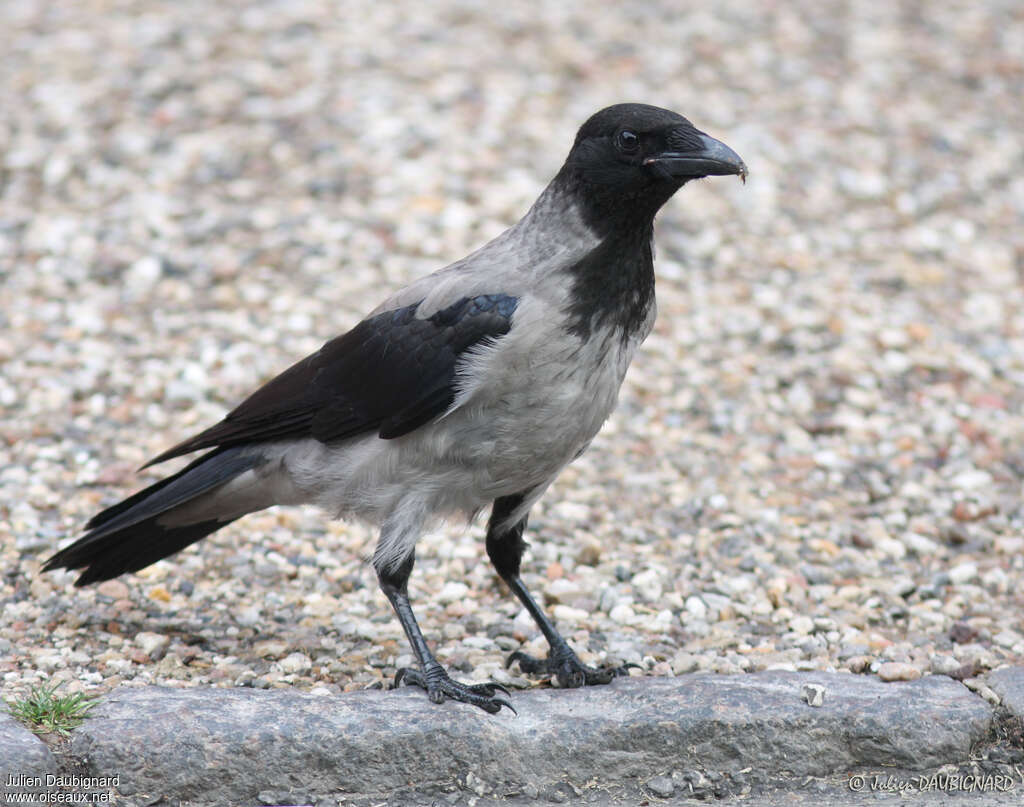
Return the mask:
<svg viewBox="0 0 1024 807">
<path fill-rule="evenodd" d="M 452 405 L 459 357 L 507 334 L 518 303 L 484 294 L 424 318 L 416 316 L 416 303 L 364 320 L 268 381 L 220 423 L 148 464 L 282 437 L 330 442 L 370 431 L 385 439 L 407 434 Z"/>
</svg>

